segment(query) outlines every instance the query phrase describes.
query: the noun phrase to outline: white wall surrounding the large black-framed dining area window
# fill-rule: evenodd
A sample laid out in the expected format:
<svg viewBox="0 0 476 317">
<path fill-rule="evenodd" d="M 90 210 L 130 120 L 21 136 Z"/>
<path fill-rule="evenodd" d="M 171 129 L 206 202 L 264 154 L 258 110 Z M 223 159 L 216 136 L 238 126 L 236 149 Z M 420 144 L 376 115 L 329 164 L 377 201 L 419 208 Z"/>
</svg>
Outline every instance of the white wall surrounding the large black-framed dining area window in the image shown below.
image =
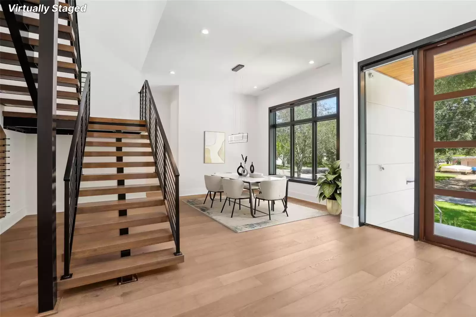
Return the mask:
<svg viewBox="0 0 476 317">
<path fill-rule="evenodd" d="M 250 152 L 256 153 L 258 157 L 254 161 L 257 172 L 268 174 L 268 108 L 340 87 L 341 68 L 337 61 L 286 79 L 266 89 L 258 96 L 258 109 L 255 112 L 256 132 L 250 135 L 249 141 Z M 313 185 L 289 182 L 288 194 L 291 197 L 317 202 L 317 188 L 313 189 L 313 187 Z"/>
</svg>

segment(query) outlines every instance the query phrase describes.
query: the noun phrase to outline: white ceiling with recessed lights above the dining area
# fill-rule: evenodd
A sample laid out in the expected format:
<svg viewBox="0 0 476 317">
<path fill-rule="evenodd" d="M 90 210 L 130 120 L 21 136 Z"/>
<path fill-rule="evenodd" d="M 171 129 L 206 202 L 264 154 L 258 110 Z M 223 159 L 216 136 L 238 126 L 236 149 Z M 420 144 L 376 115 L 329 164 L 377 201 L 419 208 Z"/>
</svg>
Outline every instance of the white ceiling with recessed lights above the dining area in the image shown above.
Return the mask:
<svg viewBox="0 0 476 317">
<path fill-rule="evenodd" d="M 208 35 L 201 34 L 204 28 Z M 228 80 L 242 93 L 259 94 L 290 76 L 339 62 L 347 34 L 283 1 L 169 0 L 142 71 L 164 82 L 170 78 L 169 84 Z M 234 73 L 237 64 L 245 68 Z"/>
</svg>

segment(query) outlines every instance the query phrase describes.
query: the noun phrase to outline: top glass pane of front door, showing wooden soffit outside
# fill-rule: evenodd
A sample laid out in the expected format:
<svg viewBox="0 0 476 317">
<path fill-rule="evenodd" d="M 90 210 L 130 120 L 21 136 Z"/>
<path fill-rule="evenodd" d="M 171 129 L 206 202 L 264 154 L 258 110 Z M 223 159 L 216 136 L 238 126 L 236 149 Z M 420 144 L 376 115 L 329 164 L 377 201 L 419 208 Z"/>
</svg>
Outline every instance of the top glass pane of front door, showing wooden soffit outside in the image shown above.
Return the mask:
<svg viewBox="0 0 476 317">
<path fill-rule="evenodd" d="M 434 55 L 435 95 L 476 87 L 476 43 Z"/>
</svg>

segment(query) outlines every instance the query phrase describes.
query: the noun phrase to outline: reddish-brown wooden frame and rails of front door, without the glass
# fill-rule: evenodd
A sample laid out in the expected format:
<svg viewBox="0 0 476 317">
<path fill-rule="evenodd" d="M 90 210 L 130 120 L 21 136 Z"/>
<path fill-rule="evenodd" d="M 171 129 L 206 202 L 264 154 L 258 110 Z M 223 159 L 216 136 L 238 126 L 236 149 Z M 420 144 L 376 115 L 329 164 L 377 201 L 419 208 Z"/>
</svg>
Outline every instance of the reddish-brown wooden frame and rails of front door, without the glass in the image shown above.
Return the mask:
<svg viewBox="0 0 476 317">
<path fill-rule="evenodd" d="M 476 39 L 476 30 L 470 31 L 470 32 L 465 32 L 459 35 L 456 35 L 450 39 L 445 39 L 441 40 L 439 42 L 436 42 L 434 44 L 428 45 L 420 50 L 418 50 L 418 82 L 419 82 L 419 87 L 418 87 L 418 96 L 419 96 L 419 113 L 420 113 L 420 118 L 419 118 L 419 142 L 420 142 L 420 147 L 418 149 L 419 155 L 420 155 L 420 160 L 419 160 L 419 178 L 420 178 L 420 183 L 419 183 L 419 204 L 420 208 L 418 218 L 419 218 L 419 233 L 418 233 L 418 238 L 419 240 L 425 241 L 427 243 L 443 247 L 443 248 L 448 248 L 451 250 L 455 250 L 461 253 L 469 254 L 472 256 L 476 256 L 476 246 L 473 248 L 471 244 L 462 242 L 462 241 L 457 241 L 454 240 L 452 242 L 452 245 L 447 245 L 439 241 L 434 241 L 434 240 L 429 240 L 428 238 L 434 238 L 433 236 L 433 226 L 434 226 L 434 215 L 429 218 L 429 215 L 427 215 L 428 212 L 426 212 L 427 208 L 430 208 L 428 205 L 431 205 L 432 209 L 433 208 L 433 202 L 434 198 L 431 197 L 431 195 L 426 194 L 426 190 L 431 188 L 431 191 L 436 194 L 440 189 L 433 188 L 434 186 L 434 181 L 431 183 L 428 182 L 429 180 L 429 175 L 434 174 L 434 167 L 433 164 L 429 165 L 426 164 L 425 162 L 428 159 L 427 158 L 427 145 L 428 142 L 430 142 L 433 146 L 433 133 L 428 133 L 428 129 L 434 129 L 434 120 L 433 120 L 433 115 L 434 111 L 431 111 L 431 117 L 432 120 L 429 122 L 429 118 L 426 118 L 429 116 L 426 110 L 426 103 L 428 102 L 435 102 L 441 99 L 453 99 L 453 98 L 461 98 L 461 91 L 468 91 L 470 93 L 476 94 L 476 88 L 473 89 L 464 89 L 460 91 L 455 91 L 455 92 L 449 92 L 445 94 L 438 94 L 434 95 L 434 74 L 433 74 L 433 59 L 431 59 L 431 62 L 426 63 L 426 59 L 428 57 L 432 57 L 440 54 L 445 51 L 449 50 L 454 50 L 458 47 L 462 47 L 464 45 L 468 45 L 471 43 L 474 43 Z M 445 45 L 443 45 L 445 44 Z M 426 67 L 431 66 L 431 70 L 426 71 Z M 425 94 L 425 86 L 427 82 L 431 82 L 431 96 L 428 97 L 430 94 Z M 429 87 L 427 87 L 429 88 Z M 438 96 L 435 98 L 434 96 Z M 466 95 L 464 96 L 466 97 Z M 428 99 L 430 98 L 430 100 Z M 437 100 L 435 100 L 437 99 Z M 432 107 L 433 109 L 433 107 Z M 441 142 L 439 145 L 441 145 L 444 148 L 453 148 L 455 147 L 454 142 L 458 142 L 461 147 L 474 147 L 475 141 L 438 141 Z M 473 144 L 471 144 L 473 143 Z M 431 155 L 433 158 L 433 154 Z M 433 160 L 433 159 L 432 159 Z M 445 189 L 445 191 L 448 191 Z M 459 196 L 466 196 L 469 197 L 469 195 L 462 191 L 456 191 Z M 442 193 L 443 194 L 443 193 Z M 474 199 L 474 198 L 473 198 Z M 431 221 L 430 221 L 431 220 Z M 449 238 L 437 238 L 436 240 L 443 240 L 443 239 L 449 239 Z M 468 247 L 470 249 L 466 249 Z"/>
</svg>

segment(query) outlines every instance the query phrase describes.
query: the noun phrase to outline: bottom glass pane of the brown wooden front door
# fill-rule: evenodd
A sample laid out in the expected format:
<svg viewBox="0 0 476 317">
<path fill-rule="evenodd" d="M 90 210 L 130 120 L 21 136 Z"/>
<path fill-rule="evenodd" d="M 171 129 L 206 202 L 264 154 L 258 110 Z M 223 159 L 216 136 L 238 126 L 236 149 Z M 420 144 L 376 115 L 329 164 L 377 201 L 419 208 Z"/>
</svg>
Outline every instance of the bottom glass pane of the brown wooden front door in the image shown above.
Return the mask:
<svg viewBox="0 0 476 317">
<path fill-rule="evenodd" d="M 435 195 L 434 234 L 476 245 L 476 200 Z"/>
</svg>

